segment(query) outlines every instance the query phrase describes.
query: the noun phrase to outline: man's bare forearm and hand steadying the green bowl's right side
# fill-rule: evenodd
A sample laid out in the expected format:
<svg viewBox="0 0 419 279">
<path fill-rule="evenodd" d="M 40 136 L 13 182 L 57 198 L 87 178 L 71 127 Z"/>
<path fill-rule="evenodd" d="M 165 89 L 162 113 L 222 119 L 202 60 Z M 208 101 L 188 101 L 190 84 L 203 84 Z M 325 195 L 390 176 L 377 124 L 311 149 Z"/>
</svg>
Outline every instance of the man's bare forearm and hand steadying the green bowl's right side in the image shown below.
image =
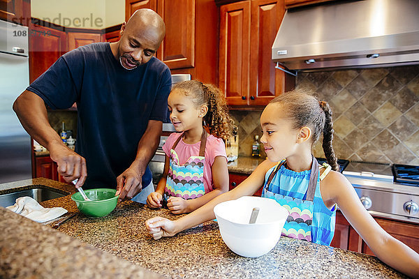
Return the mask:
<svg viewBox="0 0 419 279">
<path fill-rule="evenodd" d="M 119 195 L 120 200 L 132 199 L 141 192 L 142 175 L 159 147 L 162 128 L 162 121 L 149 120 L 147 129 L 138 142 L 135 160 L 125 172 L 117 177 L 116 195 Z"/>
</svg>

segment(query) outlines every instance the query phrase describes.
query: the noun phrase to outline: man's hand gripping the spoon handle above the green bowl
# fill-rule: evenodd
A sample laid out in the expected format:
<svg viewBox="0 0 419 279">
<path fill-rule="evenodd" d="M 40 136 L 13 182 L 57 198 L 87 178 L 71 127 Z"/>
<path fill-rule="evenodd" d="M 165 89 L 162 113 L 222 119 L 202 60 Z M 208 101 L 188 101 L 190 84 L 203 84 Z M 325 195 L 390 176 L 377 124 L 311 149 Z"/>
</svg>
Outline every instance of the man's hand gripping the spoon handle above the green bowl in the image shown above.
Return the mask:
<svg viewBox="0 0 419 279">
<path fill-rule="evenodd" d="M 57 163 L 58 173 L 63 176 L 64 180 L 71 182 L 78 179 L 75 188 L 82 187 L 87 176 L 86 160 L 82 156 L 68 149 L 64 144 L 51 146 L 50 156 Z"/>
</svg>

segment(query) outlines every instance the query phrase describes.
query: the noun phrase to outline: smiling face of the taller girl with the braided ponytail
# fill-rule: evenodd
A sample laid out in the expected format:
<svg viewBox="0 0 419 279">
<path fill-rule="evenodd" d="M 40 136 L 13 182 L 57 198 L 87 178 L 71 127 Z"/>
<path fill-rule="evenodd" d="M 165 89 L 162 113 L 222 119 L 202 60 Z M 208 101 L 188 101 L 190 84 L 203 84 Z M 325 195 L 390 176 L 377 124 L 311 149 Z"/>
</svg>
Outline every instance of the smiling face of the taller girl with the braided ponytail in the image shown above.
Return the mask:
<svg viewBox="0 0 419 279">
<path fill-rule="evenodd" d="M 297 149 L 299 130 L 292 128 L 286 119 L 283 107 L 277 103 L 267 105 L 260 116 L 263 135 L 260 142 L 265 147 L 267 158 L 271 162 L 279 162 L 293 155 Z"/>
</svg>

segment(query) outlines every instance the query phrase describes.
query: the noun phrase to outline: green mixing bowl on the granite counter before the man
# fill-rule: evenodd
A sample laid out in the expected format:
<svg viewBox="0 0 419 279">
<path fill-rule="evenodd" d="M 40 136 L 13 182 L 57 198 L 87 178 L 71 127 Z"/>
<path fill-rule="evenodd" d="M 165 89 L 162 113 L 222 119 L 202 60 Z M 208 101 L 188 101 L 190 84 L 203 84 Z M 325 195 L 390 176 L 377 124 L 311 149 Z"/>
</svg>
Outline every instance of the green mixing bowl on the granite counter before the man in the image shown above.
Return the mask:
<svg viewBox="0 0 419 279">
<path fill-rule="evenodd" d="M 75 201 L 80 212 L 86 216 L 107 216 L 117 206 L 119 195 L 115 196 L 116 189 L 98 188 L 84 190 L 84 192 L 91 201 L 85 201 L 80 193 L 73 194 L 71 199 Z"/>
</svg>

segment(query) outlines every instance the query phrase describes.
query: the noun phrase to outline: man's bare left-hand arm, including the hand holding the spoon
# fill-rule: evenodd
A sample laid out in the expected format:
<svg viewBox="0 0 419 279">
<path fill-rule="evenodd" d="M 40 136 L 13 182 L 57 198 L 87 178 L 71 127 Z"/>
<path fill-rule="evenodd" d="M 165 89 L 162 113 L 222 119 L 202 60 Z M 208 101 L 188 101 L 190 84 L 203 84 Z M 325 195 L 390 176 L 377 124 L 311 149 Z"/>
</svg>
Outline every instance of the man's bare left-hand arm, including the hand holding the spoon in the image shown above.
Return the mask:
<svg viewBox="0 0 419 279">
<path fill-rule="evenodd" d="M 25 90 L 13 103 L 13 110 L 27 133 L 50 151 L 51 159 L 58 165 L 59 174 L 68 182 L 79 179 L 76 187 L 82 186 L 87 176 L 86 160 L 68 149 L 50 126 L 43 99 Z"/>
</svg>

